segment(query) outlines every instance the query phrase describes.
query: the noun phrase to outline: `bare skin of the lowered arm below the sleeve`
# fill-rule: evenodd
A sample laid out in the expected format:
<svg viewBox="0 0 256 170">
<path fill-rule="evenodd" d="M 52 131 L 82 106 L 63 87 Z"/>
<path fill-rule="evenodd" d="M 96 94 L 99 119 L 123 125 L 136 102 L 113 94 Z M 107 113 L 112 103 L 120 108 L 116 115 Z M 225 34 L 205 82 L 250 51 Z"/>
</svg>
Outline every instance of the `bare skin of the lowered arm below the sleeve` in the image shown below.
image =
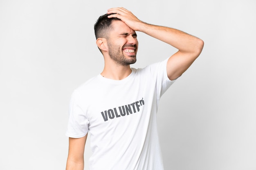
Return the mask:
<svg viewBox="0 0 256 170">
<path fill-rule="evenodd" d="M 69 149 L 66 170 L 83 170 L 83 155 L 86 139 L 87 134 L 81 138 L 69 138 Z"/>
</svg>

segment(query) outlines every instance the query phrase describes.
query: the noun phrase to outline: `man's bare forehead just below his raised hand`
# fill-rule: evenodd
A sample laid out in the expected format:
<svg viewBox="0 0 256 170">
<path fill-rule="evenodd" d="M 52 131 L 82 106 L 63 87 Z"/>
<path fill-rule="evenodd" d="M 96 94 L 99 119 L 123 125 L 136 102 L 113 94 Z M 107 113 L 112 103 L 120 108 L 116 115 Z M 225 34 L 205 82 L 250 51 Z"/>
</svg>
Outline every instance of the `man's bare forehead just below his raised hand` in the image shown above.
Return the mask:
<svg viewBox="0 0 256 170">
<path fill-rule="evenodd" d="M 135 33 L 135 31 L 130 28 L 128 25 L 126 25 L 124 22 L 119 20 L 114 20 L 111 23 L 112 29 L 110 31 L 110 34 L 112 35 L 121 35 L 123 33 Z"/>
</svg>

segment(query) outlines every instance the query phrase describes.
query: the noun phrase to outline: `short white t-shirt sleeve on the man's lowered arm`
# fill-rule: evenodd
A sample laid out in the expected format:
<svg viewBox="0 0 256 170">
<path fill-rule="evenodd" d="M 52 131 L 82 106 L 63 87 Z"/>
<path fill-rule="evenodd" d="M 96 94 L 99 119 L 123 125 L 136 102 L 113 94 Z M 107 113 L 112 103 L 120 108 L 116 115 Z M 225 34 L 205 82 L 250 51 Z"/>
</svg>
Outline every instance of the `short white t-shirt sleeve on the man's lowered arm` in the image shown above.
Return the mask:
<svg viewBox="0 0 256 170">
<path fill-rule="evenodd" d="M 80 138 L 88 133 L 89 120 L 85 109 L 81 107 L 82 98 L 75 91 L 72 94 L 69 107 L 69 119 L 66 135 L 72 138 Z"/>
</svg>

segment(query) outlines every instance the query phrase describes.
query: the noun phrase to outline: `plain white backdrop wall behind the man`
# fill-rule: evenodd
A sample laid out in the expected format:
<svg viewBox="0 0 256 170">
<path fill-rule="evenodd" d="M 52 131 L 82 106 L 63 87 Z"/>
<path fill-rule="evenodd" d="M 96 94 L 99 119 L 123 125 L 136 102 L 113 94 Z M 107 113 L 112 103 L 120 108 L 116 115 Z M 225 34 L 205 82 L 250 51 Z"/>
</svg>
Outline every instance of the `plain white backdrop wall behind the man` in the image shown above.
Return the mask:
<svg viewBox="0 0 256 170">
<path fill-rule="evenodd" d="M 93 25 L 111 7 L 204 40 L 160 101 L 165 169 L 256 170 L 254 0 L 0 0 L 0 170 L 65 169 L 70 95 L 103 69 Z M 138 40 L 135 68 L 176 52 Z"/>
</svg>

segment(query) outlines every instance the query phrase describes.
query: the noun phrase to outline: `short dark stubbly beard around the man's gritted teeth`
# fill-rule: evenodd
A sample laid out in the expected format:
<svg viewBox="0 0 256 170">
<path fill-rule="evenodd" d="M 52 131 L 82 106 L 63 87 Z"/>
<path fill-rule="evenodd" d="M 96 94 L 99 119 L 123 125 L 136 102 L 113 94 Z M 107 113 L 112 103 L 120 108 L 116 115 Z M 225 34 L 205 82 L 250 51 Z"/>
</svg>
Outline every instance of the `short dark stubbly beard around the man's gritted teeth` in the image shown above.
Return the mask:
<svg viewBox="0 0 256 170">
<path fill-rule="evenodd" d="M 137 49 L 137 45 L 126 44 L 124 47 L 134 47 L 135 51 Z M 122 48 L 122 49 L 123 49 Z M 123 51 L 120 51 L 120 46 L 115 46 L 111 42 L 108 41 L 108 54 L 112 60 L 115 61 L 118 65 L 130 65 L 136 62 L 136 54 L 128 55 L 128 58 L 124 56 Z"/>
</svg>

